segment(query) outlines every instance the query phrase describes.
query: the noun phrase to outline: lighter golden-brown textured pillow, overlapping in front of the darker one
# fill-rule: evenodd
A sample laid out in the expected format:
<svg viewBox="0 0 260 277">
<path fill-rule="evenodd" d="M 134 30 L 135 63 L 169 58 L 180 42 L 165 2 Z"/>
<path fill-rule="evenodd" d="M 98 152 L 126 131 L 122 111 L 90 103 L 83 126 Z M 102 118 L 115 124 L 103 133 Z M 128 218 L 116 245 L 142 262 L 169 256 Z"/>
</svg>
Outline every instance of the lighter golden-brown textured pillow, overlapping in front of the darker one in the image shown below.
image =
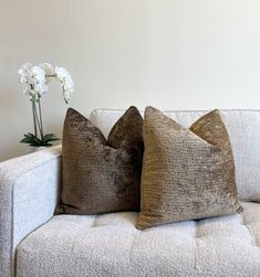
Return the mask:
<svg viewBox="0 0 260 277">
<path fill-rule="evenodd" d="M 231 145 L 218 110 L 186 129 L 147 107 L 144 143 L 137 228 L 242 210 Z"/>
</svg>

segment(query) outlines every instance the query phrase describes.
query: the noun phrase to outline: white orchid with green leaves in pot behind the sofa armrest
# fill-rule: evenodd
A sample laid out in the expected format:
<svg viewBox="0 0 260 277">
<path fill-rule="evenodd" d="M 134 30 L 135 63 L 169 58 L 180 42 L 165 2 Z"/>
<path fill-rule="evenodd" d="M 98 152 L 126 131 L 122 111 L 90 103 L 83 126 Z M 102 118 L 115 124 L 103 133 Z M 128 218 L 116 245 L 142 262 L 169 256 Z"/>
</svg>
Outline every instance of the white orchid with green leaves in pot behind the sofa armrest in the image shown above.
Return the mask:
<svg viewBox="0 0 260 277">
<path fill-rule="evenodd" d="M 74 92 L 74 83 L 70 73 L 64 67 L 53 67 L 49 63 L 32 65 L 25 63 L 18 71 L 19 82 L 24 86 L 23 94 L 30 97 L 32 106 L 33 130 L 23 135 L 22 143 L 30 145 L 30 152 L 40 150 L 42 147 L 52 146 L 53 141 L 60 140 L 54 134 L 43 131 L 41 97 L 48 92 L 48 83 L 55 79 L 62 87 L 62 95 L 67 104 Z"/>
</svg>

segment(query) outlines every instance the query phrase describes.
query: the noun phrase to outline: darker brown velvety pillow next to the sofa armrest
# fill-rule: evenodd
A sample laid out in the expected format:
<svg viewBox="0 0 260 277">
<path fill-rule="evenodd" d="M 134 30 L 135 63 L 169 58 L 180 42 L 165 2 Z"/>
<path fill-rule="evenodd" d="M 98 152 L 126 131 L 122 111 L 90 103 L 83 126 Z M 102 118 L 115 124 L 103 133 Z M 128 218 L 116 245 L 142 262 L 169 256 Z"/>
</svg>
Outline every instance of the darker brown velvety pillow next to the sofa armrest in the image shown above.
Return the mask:
<svg viewBox="0 0 260 277">
<path fill-rule="evenodd" d="M 70 108 L 62 145 L 63 182 L 56 214 L 139 210 L 144 142 L 143 118 L 135 107 L 118 119 L 107 140 Z"/>
</svg>

